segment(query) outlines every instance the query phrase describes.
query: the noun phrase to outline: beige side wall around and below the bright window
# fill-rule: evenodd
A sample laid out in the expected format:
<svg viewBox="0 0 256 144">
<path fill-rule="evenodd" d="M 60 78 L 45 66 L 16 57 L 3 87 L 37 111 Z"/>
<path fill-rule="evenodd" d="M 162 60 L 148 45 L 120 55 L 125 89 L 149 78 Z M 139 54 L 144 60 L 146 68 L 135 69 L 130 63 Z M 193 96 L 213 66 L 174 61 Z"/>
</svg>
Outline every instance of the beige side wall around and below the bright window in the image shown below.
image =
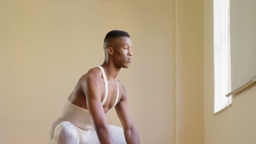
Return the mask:
<svg viewBox="0 0 256 144">
<path fill-rule="evenodd" d="M 204 0 L 205 53 L 205 144 L 255 143 L 256 85 L 247 88 L 232 99 L 232 106 L 213 116 L 213 13 L 212 0 Z"/>
</svg>

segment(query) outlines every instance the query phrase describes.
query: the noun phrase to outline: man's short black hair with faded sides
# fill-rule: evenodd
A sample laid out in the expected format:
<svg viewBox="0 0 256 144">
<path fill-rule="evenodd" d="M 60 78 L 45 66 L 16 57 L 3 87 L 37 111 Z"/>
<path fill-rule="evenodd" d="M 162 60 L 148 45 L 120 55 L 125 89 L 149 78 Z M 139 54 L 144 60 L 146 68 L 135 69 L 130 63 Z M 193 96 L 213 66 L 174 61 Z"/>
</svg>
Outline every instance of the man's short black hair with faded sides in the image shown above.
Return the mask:
<svg viewBox="0 0 256 144">
<path fill-rule="evenodd" d="M 130 38 L 130 35 L 125 31 L 119 31 L 119 30 L 110 31 L 107 33 L 106 37 L 104 38 L 104 48 L 107 48 L 106 45 L 108 45 L 109 40 L 112 40 L 118 37 Z"/>
</svg>

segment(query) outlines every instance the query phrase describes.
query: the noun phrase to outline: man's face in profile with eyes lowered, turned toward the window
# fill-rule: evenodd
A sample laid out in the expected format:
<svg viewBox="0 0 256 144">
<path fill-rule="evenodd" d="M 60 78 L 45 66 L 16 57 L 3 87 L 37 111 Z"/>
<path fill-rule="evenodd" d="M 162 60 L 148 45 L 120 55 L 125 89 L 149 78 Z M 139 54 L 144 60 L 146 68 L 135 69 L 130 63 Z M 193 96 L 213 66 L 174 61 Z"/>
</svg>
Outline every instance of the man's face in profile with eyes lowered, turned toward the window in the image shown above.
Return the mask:
<svg viewBox="0 0 256 144">
<path fill-rule="evenodd" d="M 119 68 L 129 68 L 132 62 L 132 42 L 131 38 L 119 37 L 113 39 L 113 62 Z"/>
</svg>

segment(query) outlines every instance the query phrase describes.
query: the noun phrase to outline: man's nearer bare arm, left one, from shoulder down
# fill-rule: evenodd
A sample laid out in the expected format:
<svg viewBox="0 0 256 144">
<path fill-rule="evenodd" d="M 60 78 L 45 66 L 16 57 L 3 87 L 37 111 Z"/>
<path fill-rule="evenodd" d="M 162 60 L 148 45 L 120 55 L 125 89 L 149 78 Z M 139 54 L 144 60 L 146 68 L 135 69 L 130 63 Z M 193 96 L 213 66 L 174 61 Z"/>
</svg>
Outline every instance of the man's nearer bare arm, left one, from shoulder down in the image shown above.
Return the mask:
<svg viewBox="0 0 256 144">
<path fill-rule="evenodd" d="M 83 88 L 86 94 L 87 107 L 94 122 L 98 140 L 102 144 L 112 144 L 114 140 L 107 124 L 103 106 L 101 105 L 100 85 L 100 81 L 97 80 L 95 76 L 88 76 L 86 77 Z"/>
</svg>

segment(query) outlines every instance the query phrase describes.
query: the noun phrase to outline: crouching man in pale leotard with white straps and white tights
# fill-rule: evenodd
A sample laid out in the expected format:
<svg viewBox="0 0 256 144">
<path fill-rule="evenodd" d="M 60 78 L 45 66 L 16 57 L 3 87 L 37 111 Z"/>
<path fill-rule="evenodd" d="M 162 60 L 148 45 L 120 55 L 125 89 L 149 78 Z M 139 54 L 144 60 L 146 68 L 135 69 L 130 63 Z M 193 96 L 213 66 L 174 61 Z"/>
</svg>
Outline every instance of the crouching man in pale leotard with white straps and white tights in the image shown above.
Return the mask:
<svg viewBox="0 0 256 144">
<path fill-rule="evenodd" d="M 105 59 L 80 77 L 50 131 L 50 143 L 139 143 L 123 83 L 121 68 L 132 61 L 132 42 L 124 31 L 110 31 L 103 43 Z M 108 125 L 106 113 L 113 107 L 123 126 Z"/>
</svg>

